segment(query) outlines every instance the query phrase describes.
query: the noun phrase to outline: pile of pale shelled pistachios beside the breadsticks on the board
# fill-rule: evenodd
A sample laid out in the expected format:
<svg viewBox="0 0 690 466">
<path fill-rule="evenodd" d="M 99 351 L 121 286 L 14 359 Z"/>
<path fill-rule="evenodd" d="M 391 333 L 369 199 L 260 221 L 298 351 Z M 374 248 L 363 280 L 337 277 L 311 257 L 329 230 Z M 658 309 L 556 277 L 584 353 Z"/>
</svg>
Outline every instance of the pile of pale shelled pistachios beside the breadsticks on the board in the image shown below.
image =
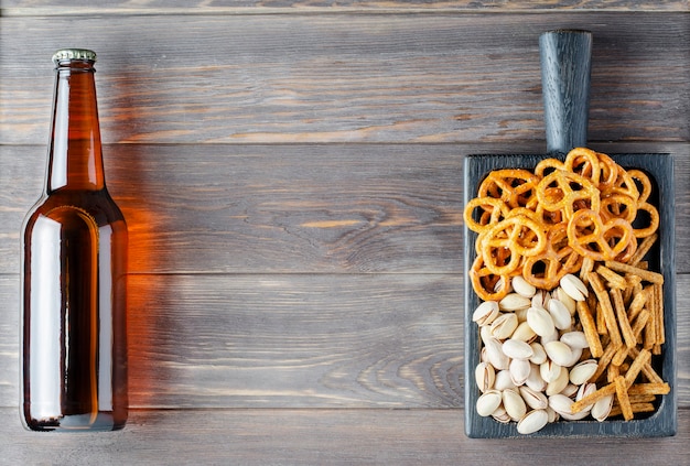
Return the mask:
<svg viewBox="0 0 690 466">
<path fill-rule="evenodd" d="M 483 343 L 475 369 L 482 392 L 477 413 L 502 423 L 517 422 L 521 434 L 559 419 L 606 419 L 613 397 L 571 413 L 575 401 L 596 390 L 587 381 L 597 360 L 590 357 L 575 319 L 575 302 L 586 297 L 586 285 L 572 274 L 551 292 L 537 290 L 519 275 L 509 285 L 513 291 L 503 300 L 485 301 L 473 313 Z"/>
</svg>

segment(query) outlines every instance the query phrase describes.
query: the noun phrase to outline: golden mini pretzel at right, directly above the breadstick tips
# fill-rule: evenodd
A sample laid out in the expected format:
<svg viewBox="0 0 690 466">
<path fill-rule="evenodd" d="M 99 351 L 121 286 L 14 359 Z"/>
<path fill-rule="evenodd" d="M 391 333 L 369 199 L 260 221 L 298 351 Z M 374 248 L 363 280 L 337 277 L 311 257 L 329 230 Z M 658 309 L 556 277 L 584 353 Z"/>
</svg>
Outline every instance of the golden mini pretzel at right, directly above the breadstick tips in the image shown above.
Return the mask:
<svg viewBox="0 0 690 466">
<path fill-rule="evenodd" d="M 604 261 L 626 252 L 635 236 L 633 227 L 624 219 L 613 218 L 604 224 L 597 212 L 582 209 L 575 212 L 568 224 L 568 239 L 571 248 L 582 256 Z"/>
</svg>

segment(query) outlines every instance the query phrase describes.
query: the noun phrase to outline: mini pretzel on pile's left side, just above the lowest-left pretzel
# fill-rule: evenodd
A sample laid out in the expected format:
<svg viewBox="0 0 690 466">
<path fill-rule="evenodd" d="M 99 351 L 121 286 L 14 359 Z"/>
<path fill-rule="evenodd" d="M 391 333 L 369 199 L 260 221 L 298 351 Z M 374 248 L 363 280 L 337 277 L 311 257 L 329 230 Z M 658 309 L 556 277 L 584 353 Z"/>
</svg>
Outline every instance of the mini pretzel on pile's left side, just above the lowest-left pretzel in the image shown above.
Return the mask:
<svg viewBox="0 0 690 466">
<path fill-rule="evenodd" d="M 522 257 L 536 256 L 543 251 L 546 246 L 547 236 L 542 227 L 525 215 L 516 215 L 486 230 L 479 249 L 486 268 L 497 275 L 503 275 L 515 271 Z M 500 265 L 493 260 L 495 249 L 510 251 L 507 264 Z"/>
</svg>

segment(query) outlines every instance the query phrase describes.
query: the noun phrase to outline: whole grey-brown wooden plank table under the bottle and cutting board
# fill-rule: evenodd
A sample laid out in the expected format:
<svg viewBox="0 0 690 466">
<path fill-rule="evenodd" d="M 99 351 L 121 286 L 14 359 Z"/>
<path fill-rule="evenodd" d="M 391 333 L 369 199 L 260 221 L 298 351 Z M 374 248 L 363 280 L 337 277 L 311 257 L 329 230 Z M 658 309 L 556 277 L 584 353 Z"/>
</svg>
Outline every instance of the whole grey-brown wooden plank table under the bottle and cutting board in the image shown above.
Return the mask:
<svg viewBox="0 0 690 466">
<path fill-rule="evenodd" d="M 74 3 L 0 11 L 0 464 L 688 464 L 687 0 Z M 590 145 L 676 158 L 675 437 L 464 435 L 463 158 L 543 152 L 557 28 L 594 33 Z M 129 223 L 131 415 L 41 435 L 19 231 L 75 45 Z"/>
</svg>

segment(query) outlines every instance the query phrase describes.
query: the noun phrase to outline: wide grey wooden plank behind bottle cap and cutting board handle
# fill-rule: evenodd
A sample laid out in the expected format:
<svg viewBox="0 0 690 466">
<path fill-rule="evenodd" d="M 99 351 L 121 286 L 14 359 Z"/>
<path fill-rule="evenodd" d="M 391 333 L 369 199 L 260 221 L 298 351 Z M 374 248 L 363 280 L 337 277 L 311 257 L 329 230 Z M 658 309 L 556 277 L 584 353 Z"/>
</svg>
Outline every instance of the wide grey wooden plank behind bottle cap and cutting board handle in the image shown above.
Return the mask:
<svg viewBox="0 0 690 466">
<path fill-rule="evenodd" d="M 538 35 L 556 28 L 594 33 L 592 141 L 690 140 L 684 14 L 10 17 L 0 24 L 3 143 L 45 141 L 50 56 L 65 31 L 99 53 L 107 142 L 542 140 Z"/>
</svg>

